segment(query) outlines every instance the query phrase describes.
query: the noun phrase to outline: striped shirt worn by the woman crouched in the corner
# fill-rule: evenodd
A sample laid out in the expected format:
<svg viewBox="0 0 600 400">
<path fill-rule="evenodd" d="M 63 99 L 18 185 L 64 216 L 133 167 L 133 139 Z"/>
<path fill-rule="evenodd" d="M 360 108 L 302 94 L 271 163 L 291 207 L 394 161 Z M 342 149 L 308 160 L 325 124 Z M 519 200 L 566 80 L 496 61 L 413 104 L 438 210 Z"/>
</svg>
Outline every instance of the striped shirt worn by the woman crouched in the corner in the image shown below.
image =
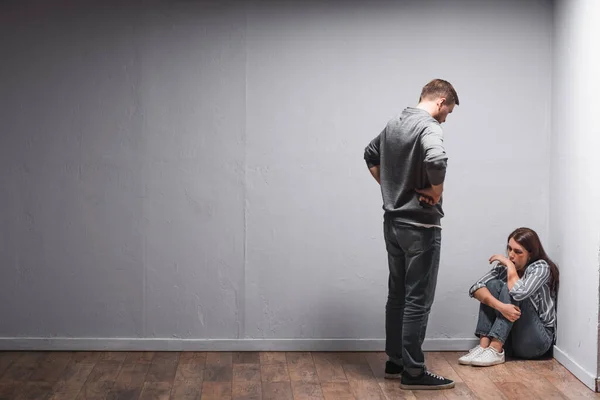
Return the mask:
<svg viewBox="0 0 600 400">
<path fill-rule="evenodd" d="M 515 301 L 531 301 L 544 326 L 556 328 L 556 299 L 550 290 L 551 278 L 548 263 L 544 260 L 537 260 L 526 267 L 523 277 L 515 283 L 509 293 Z M 506 267 L 498 264 L 492 267 L 487 274 L 471 286 L 469 296 L 474 297 L 473 294 L 478 289 L 485 287 L 486 283 L 492 279 L 507 282 Z"/>
</svg>

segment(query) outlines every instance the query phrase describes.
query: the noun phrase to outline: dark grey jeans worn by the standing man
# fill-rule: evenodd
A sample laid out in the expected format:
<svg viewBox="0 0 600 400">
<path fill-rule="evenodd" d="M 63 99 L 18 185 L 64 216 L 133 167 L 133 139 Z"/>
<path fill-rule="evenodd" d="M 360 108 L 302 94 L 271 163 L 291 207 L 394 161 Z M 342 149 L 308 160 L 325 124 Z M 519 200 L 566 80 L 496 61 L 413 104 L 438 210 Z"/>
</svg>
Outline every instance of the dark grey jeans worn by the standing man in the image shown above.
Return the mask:
<svg viewBox="0 0 600 400">
<path fill-rule="evenodd" d="M 384 237 L 390 270 L 385 352 L 417 376 L 425 370 L 422 345 L 435 296 L 442 233 L 386 218 Z"/>
</svg>

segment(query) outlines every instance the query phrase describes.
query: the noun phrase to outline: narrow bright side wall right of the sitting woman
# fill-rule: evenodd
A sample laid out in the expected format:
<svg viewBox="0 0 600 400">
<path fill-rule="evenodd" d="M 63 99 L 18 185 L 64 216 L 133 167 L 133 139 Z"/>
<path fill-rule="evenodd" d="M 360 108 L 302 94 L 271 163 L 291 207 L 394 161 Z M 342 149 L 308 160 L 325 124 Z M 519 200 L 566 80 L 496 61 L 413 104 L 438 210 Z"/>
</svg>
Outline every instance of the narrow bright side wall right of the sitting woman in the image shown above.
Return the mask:
<svg viewBox="0 0 600 400">
<path fill-rule="evenodd" d="M 561 269 L 557 358 L 595 388 L 600 264 L 600 2 L 556 7 L 550 232 Z M 590 119 L 591 117 L 591 119 Z"/>
</svg>

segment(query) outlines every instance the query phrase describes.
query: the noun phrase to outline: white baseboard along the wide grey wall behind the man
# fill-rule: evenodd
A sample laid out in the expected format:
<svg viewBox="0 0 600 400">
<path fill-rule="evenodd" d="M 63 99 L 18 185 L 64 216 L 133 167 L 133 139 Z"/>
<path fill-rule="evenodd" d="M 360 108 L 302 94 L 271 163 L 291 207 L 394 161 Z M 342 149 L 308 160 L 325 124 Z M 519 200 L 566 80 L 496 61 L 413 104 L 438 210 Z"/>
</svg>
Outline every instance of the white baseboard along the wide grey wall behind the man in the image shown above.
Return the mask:
<svg viewBox="0 0 600 400">
<path fill-rule="evenodd" d="M 474 339 L 425 339 L 425 351 L 466 351 Z M 30 351 L 383 351 L 383 339 L 0 338 L 0 350 Z"/>
</svg>

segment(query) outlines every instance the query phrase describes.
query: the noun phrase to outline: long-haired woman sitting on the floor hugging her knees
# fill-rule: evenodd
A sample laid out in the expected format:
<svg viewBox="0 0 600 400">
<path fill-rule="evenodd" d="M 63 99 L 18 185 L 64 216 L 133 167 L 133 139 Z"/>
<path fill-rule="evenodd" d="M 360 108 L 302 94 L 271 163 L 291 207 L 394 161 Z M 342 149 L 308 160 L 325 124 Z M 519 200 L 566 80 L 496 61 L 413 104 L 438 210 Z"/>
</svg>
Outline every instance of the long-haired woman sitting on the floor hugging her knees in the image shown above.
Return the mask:
<svg viewBox="0 0 600 400">
<path fill-rule="evenodd" d="M 505 343 L 524 359 L 544 355 L 555 341 L 558 268 L 546 255 L 535 231 L 519 228 L 508 236 L 508 257 L 497 262 L 469 290 L 481 302 L 475 335 L 479 345 L 458 359 L 487 367 L 504 362 Z"/>
</svg>

